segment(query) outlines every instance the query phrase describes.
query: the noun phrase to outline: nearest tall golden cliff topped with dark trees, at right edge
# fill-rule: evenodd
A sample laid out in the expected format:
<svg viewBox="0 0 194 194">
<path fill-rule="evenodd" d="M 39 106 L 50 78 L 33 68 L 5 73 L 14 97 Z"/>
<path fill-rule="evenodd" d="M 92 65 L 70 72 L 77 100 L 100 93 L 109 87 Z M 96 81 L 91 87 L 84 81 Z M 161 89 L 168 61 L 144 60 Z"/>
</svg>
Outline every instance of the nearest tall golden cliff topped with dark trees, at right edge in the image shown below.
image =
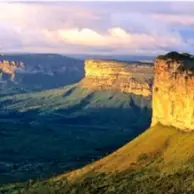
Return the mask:
<svg viewBox="0 0 194 194">
<path fill-rule="evenodd" d="M 155 60 L 152 125 L 194 130 L 194 57 L 171 52 Z"/>
</svg>

